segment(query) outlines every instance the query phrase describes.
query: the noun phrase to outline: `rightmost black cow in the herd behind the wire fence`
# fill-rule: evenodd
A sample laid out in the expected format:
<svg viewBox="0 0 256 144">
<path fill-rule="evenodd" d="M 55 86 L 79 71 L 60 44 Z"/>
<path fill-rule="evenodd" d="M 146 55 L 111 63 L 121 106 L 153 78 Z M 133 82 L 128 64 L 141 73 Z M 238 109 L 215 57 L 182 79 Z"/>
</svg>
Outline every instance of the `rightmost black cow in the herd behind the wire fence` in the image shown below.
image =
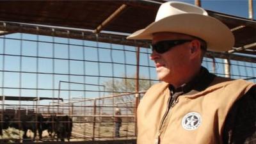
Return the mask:
<svg viewBox="0 0 256 144">
<path fill-rule="evenodd" d="M 67 138 L 68 141 L 70 141 L 71 132 L 72 132 L 72 118 L 69 116 L 55 116 L 51 115 L 46 120 L 46 127 L 47 131 L 49 133 L 49 136 L 57 136 L 57 141 L 60 139 L 61 141 L 64 141 L 65 138 Z M 45 128 L 46 128 L 45 127 Z M 45 129 L 44 128 L 44 129 Z"/>
</svg>

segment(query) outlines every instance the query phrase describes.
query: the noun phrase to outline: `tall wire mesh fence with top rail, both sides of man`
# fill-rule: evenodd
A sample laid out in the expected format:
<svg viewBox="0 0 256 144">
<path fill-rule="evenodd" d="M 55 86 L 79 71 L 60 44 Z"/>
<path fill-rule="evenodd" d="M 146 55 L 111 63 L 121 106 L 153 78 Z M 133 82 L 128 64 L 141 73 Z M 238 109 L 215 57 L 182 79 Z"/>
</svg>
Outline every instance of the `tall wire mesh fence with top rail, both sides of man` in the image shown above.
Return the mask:
<svg viewBox="0 0 256 144">
<path fill-rule="evenodd" d="M 4 119 L 10 111 L 19 127 L 24 124 L 22 116 L 32 113 L 36 118 L 42 115 L 42 122 L 51 124 L 54 131 L 60 128 L 54 126 L 59 119 L 51 116 L 67 115 L 72 120 L 70 141 L 136 138 L 138 102 L 158 82 L 154 63 L 148 59 L 147 41 L 70 28 L 10 22 L 4 26 L 13 33 L 0 36 L 2 140 L 23 139 L 21 128 L 4 127 L 13 123 L 12 117 Z M 218 76 L 255 83 L 255 62 L 253 56 L 207 52 L 203 65 Z M 115 115 L 116 108 L 122 115 Z M 122 118 L 118 138 L 115 117 Z M 38 120 L 28 122 L 40 124 Z M 70 123 L 70 119 L 61 122 Z M 56 141 L 56 135 L 49 136 L 51 129 L 42 130 L 41 141 Z"/>
</svg>

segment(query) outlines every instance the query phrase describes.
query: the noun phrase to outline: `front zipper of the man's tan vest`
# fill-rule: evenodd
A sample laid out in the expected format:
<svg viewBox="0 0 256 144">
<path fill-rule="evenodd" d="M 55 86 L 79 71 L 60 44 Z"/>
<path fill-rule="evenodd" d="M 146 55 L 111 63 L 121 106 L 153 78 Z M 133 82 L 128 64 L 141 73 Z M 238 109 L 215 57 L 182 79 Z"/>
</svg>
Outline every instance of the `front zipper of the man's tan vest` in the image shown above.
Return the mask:
<svg viewBox="0 0 256 144">
<path fill-rule="evenodd" d="M 164 120 L 165 120 L 166 116 L 168 115 L 170 109 L 172 109 L 173 106 L 175 106 L 175 104 L 177 104 L 177 102 L 178 102 L 177 98 L 178 97 L 173 97 L 173 99 L 172 99 L 171 96 L 168 98 L 167 109 L 166 109 L 166 111 L 164 113 L 164 116 L 163 116 L 163 118 L 161 120 L 161 123 L 160 123 L 160 127 L 159 127 L 159 129 L 157 131 L 157 138 L 155 140 L 155 144 L 160 144 L 160 135 L 161 135 L 161 129 L 163 127 Z"/>
</svg>

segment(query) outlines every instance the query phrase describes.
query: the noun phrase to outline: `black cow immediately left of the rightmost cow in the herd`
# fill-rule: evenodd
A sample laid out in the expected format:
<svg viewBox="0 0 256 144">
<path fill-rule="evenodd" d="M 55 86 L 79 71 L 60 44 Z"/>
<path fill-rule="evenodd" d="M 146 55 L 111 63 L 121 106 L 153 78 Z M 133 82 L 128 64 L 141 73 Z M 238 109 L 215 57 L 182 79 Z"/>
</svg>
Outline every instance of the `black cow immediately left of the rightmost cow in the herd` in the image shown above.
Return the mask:
<svg viewBox="0 0 256 144">
<path fill-rule="evenodd" d="M 34 133 L 33 141 L 35 141 L 37 130 L 39 139 L 42 139 L 43 124 L 44 118 L 40 113 L 29 113 L 28 115 L 20 115 L 20 118 L 14 116 L 10 122 L 10 127 L 24 131 L 23 140 L 28 138 L 27 131 L 31 130 Z"/>
</svg>

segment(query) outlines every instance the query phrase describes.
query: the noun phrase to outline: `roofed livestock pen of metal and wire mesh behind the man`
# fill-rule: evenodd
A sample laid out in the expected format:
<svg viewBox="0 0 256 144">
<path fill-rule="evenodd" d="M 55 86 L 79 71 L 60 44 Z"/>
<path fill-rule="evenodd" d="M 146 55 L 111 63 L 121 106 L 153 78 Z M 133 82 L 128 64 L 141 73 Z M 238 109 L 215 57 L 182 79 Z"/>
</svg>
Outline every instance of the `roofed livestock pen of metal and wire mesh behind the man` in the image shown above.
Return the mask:
<svg viewBox="0 0 256 144">
<path fill-rule="evenodd" d="M 1 1 L 1 143 L 32 143 L 34 128 L 42 131 L 35 142 L 57 143 L 56 133 L 72 128 L 71 136 L 60 134 L 65 142 L 135 143 L 136 108 L 158 80 L 148 59 L 150 42 L 125 37 L 153 21 L 159 3 Z M 65 12 L 59 15 L 61 8 Z M 82 10 L 90 14 L 79 14 Z M 228 25 L 236 45 L 228 52 L 207 52 L 204 67 L 255 83 L 255 20 L 208 12 Z M 116 108 L 121 115 L 115 115 Z M 116 117 L 122 118 L 120 137 Z M 23 125 L 32 127 L 28 138 Z"/>
</svg>

